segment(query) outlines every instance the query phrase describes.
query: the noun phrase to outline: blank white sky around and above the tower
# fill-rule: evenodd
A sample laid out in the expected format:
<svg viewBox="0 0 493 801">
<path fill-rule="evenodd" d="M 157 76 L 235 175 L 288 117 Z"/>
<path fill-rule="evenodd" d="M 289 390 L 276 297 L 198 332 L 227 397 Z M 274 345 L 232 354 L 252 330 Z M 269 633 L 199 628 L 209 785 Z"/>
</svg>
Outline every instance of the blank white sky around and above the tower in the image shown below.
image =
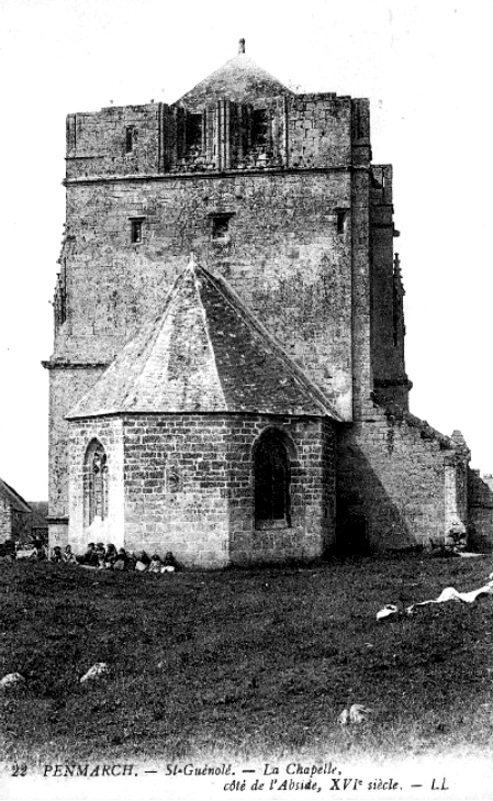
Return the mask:
<svg viewBox="0 0 493 801">
<path fill-rule="evenodd" d="M 292 87 L 369 97 L 394 165 L 411 411 L 493 472 L 492 0 L 0 0 L 0 476 L 47 497 L 65 116 L 173 102 L 237 52 Z"/>
</svg>

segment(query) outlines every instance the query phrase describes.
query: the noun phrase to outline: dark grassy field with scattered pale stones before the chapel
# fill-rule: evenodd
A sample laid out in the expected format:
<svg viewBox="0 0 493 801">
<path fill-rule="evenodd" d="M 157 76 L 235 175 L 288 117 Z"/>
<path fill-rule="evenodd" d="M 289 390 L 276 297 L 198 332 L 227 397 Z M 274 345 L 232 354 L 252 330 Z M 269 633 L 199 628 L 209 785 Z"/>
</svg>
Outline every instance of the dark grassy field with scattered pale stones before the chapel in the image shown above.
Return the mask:
<svg viewBox="0 0 493 801">
<path fill-rule="evenodd" d="M 5 761 L 443 754 L 493 745 L 493 599 L 376 622 L 485 583 L 491 559 L 406 557 L 168 576 L 0 572 Z M 94 663 L 109 676 L 80 677 Z M 344 707 L 371 720 L 341 727 Z"/>
</svg>

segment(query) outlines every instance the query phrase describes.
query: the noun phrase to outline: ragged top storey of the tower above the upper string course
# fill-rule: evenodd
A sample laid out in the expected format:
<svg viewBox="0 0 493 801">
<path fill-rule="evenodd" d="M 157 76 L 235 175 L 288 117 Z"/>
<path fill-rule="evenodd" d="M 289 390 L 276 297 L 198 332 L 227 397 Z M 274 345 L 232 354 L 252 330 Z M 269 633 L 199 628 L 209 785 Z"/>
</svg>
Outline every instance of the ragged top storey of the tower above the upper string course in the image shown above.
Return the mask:
<svg viewBox="0 0 493 801">
<path fill-rule="evenodd" d="M 251 141 L 253 109 L 266 114 L 265 143 Z M 187 148 L 188 115 L 199 114 L 200 142 Z M 249 122 L 250 121 L 250 122 Z M 262 94 L 234 103 L 185 96 L 171 106 L 110 106 L 67 117 L 67 178 L 177 170 L 328 168 L 368 164 L 367 100 L 335 94 Z"/>
</svg>

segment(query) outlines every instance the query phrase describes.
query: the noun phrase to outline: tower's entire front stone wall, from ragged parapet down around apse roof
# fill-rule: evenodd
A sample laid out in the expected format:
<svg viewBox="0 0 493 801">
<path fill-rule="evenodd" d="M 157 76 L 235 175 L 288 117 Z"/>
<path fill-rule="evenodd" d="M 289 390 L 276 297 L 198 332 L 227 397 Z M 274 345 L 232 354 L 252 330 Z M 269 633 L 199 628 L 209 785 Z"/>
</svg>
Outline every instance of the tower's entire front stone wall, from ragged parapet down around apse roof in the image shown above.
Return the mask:
<svg viewBox="0 0 493 801">
<path fill-rule="evenodd" d="M 231 163 L 234 172 L 212 164 L 197 172 L 196 163 L 178 162 L 176 107 L 69 116 L 55 362 L 109 363 L 161 311 L 193 251 L 238 292 L 343 419 L 360 413 L 372 386 L 368 102 L 288 94 L 269 105 L 277 161 L 264 170 L 246 162 L 241 168 L 226 142 L 219 166 Z M 220 105 L 218 142 L 228 120 Z M 228 230 L 215 237 L 219 215 L 227 216 Z M 142 239 L 132 242 L 136 218 Z M 67 509 L 63 416 L 95 377 L 53 376 L 52 515 Z"/>
</svg>

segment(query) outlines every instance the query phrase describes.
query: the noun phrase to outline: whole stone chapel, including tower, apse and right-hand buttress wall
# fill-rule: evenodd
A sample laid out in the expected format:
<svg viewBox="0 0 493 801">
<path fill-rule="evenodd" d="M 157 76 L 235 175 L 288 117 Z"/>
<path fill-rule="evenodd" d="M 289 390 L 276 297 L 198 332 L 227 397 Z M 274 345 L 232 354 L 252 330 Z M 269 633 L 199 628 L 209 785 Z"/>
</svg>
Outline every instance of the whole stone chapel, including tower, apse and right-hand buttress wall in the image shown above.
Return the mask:
<svg viewBox="0 0 493 801">
<path fill-rule="evenodd" d="M 368 100 L 295 93 L 240 40 L 171 105 L 69 114 L 66 156 L 52 545 L 224 567 L 468 531 L 464 439 L 409 412 Z"/>
</svg>

